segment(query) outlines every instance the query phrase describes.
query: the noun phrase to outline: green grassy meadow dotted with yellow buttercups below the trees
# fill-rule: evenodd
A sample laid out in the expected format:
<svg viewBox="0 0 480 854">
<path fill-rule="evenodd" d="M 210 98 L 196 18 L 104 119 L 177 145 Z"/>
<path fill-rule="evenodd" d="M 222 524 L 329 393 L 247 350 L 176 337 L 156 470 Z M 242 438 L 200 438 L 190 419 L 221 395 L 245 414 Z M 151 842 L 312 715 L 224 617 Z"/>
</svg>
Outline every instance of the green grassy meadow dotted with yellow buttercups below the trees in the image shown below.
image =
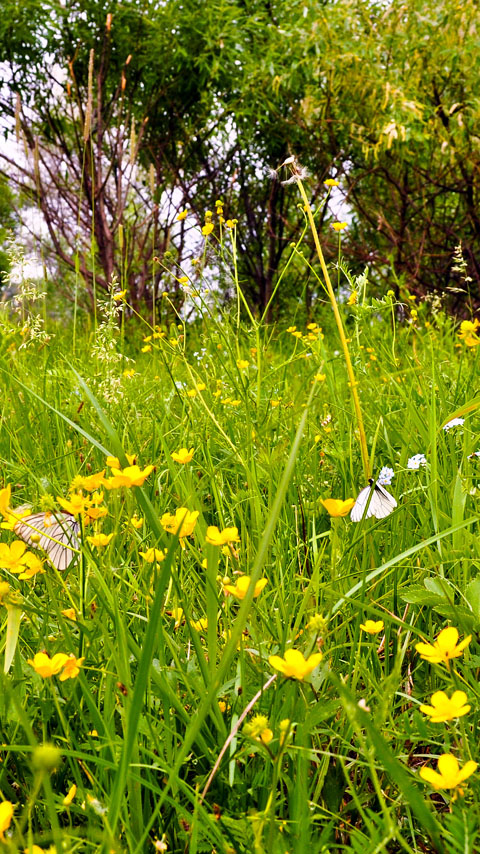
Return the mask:
<svg viewBox="0 0 480 854">
<path fill-rule="evenodd" d="M 341 284 L 369 465 L 398 502 L 358 524 L 327 501 L 366 480 L 323 291 L 272 327 L 238 290 L 217 303 L 200 263 L 188 324 L 168 296 L 158 325 L 123 323 L 119 286 L 75 335 L 5 309 L 1 849 L 477 850 L 475 330 Z M 7 548 L 26 503 L 76 513 L 67 571 Z M 446 627 L 470 642 L 416 649 Z M 310 668 L 285 675 L 288 650 Z"/>
</svg>

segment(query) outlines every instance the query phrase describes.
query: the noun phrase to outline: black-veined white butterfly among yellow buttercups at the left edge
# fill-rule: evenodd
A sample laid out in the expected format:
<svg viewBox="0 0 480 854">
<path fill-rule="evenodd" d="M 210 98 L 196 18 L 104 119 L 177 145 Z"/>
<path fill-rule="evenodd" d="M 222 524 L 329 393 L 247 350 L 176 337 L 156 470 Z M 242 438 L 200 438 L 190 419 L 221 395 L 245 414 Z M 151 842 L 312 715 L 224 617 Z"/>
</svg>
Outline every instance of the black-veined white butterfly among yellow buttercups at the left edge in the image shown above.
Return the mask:
<svg viewBox="0 0 480 854">
<path fill-rule="evenodd" d="M 80 523 L 69 513 L 33 513 L 19 519 L 14 531 L 29 546 L 43 549 L 56 569 L 68 569 L 78 558 Z"/>
</svg>

